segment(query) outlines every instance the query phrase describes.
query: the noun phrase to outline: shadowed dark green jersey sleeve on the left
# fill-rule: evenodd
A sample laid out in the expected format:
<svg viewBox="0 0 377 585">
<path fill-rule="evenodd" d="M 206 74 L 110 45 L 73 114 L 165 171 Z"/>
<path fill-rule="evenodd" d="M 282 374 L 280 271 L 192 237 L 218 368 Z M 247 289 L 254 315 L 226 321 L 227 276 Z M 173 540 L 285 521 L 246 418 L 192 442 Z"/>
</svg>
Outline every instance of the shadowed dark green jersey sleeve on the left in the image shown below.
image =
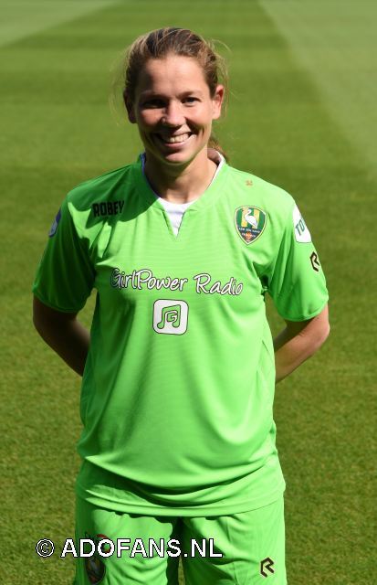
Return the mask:
<svg viewBox="0 0 377 585">
<path fill-rule="evenodd" d="M 94 279 L 88 242 L 79 236 L 66 198 L 49 231 L 33 293 L 53 309 L 77 313 L 85 305 Z"/>
</svg>

